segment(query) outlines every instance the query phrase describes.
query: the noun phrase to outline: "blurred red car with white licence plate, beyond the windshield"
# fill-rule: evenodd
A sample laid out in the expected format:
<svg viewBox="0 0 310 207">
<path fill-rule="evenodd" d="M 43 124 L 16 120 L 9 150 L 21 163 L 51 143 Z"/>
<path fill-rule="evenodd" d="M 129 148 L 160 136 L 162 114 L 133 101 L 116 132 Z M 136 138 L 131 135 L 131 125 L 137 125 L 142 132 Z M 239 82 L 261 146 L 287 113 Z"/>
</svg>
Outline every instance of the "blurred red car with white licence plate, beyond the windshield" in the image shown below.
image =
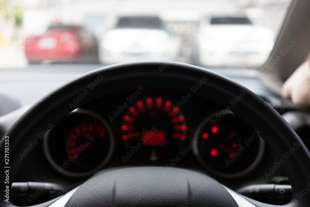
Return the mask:
<svg viewBox="0 0 310 207">
<path fill-rule="evenodd" d="M 24 48 L 29 63 L 98 62 L 97 41 L 80 26 L 52 25 L 42 35 L 27 37 Z"/>
</svg>

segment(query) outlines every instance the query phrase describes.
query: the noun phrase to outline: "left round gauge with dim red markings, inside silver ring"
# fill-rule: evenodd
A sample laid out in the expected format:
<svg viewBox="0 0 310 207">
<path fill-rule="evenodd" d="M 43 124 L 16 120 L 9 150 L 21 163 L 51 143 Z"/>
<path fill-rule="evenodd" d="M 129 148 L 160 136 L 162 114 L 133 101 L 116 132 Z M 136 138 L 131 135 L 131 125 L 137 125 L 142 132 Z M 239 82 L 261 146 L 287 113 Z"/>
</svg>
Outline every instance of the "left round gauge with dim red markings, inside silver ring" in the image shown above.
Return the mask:
<svg viewBox="0 0 310 207">
<path fill-rule="evenodd" d="M 45 134 L 43 145 L 47 159 L 58 172 L 83 177 L 108 162 L 114 136 L 103 118 L 87 110 L 75 110 Z"/>
</svg>

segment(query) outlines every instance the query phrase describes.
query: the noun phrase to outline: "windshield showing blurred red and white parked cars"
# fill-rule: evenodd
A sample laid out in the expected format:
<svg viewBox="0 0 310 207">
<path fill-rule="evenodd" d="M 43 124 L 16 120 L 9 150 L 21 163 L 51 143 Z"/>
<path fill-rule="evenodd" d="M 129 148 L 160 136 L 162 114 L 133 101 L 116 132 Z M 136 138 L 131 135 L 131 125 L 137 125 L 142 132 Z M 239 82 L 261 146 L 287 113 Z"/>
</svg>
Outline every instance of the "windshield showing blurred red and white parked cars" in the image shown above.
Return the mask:
<svg viewBox="0 0 310 207">
<path fill-rule="evenodd" d="M 0 0 L 0 69 L 177 61 L 258 68 L 290 0 Z"/>
</svg>

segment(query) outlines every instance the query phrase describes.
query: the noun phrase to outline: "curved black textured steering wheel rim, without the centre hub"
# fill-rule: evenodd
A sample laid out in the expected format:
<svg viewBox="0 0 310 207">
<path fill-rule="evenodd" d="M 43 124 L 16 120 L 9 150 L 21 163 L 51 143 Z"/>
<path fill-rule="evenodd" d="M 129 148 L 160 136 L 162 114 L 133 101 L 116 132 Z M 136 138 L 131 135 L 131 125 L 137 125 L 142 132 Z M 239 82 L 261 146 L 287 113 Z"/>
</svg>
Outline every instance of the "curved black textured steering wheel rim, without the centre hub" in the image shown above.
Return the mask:
<svg viewBox="0 0 310 207">
<path fill-rule="evenodd" d="M 246 95 L 232 107 L 231 111 L 247 121 L 247 123 L 259 129 L 261 137 L 271 147 L 278 159 L 283 159 L 286 151 L 293 146 L 299 146 L 287 160 L 283 167 L 291 182 L 293 198 L 285 206 L 308 206 L 310 193 L 300 198 L 300 191 L 307 187 L 310 181 L 310 153 L 295 131 L 289 124 L 269 106 L 244 86 L 228 79 L 220 74 L 197 66 L 169 62 L 169 61 L 138 61 L 110 65 L 88 72 L 68 83 L 56 88 L 45 97 L 35 103 L 15 124 L 8 130 L 4 137 L 10 137 L 10 178 L 11 186 L 24 156 L 20 156 L 23 149 L 41 140 L 40 136 L 51 125 L 73 109 L 94 100 L 103 95 L 120 91 L 124 88 L 167 87 L 189 91 L 193 85 L 206 81 L 197 94 L 215 101 L 226 107 L 230 101 L 239 96 L 241 92 Z M 97 81 L 96 81 L 97 80 Z M 74 98 L 87 90 L 88 94 L 74 105 Z M 0 141 L 0 152 L 4 157 L 5 139 Z M 0 168 L 4 171 L 5 161 L 0 159 Z M 3 181 L 2 181 L 3 182 Z M 0 197 L 4 198 L 6 185 L 0 185 Z M 251 200 L 251 199 L 250 199 Z M 272 206 L 256 202 L 256 206 Z M 14 206 L 2 199 L 0 205 Z M 43 205 L 45 206 L 45 205 Z"/>
</svg>

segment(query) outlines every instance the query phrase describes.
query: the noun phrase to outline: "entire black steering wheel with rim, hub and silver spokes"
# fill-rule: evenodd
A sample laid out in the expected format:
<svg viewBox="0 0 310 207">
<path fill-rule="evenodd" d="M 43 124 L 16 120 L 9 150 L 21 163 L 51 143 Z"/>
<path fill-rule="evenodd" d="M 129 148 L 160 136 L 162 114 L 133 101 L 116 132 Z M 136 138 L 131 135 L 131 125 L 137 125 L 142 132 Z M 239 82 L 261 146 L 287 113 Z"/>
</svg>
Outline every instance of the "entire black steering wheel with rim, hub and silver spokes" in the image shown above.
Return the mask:
<svg viewBox="0 0 310 207">
<path fill-rule="evenodd" d="M 7 188 L 16 176 L 24 156 L 20 153 L 31 143 L 39 143 L 53 123 L 71 112 L 73 100 L 87 90 L 74 108 L 106 94 L 125 88 L 165 87 L 189 91 L 207 79 L 197 94 L 226 107 L 239 96 L 244 97 L 232 112 L 262 133 L 278 159 L 296 148 L 283 167 L 290 180 L 293 197 L 284 206 L 309 206 L 310 154 L 301 139 L 276 110 L 244 86 L 220 74 L 197 66 L 169 61 L 138 61 L 110 65 L 88 72 L 56 88 L 35 103 L 7 131 L 0 141 L 1 172 L 9 171 L 7 184 L 0 185 L 0 205 L 6 202 Z M 93 87 L 90 90 L 89 84 Z M 9 140 L 10 166 L 5 164 L 5 140 Z M 10 168 L 8 168 L 10 167 Z M 191 170 L 165 167 L 131 167 L 106 169 L 69 191 L 64 196 L 37 206 L 274 206 L 237 194 L 216 180 Z M 307 192 L 306 192 L 307 191 Z M 302 196 L 301 196 L 302 195 Z"/>
</svg>

